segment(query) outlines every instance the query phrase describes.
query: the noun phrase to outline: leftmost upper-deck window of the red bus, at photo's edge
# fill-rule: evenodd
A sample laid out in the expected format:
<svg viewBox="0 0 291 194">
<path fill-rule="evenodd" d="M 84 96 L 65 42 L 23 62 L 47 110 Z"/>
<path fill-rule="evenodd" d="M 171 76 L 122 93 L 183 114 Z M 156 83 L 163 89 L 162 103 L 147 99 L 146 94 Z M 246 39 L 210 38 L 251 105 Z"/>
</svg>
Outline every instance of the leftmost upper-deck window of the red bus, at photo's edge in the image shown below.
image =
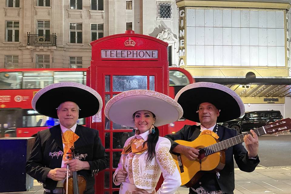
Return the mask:
<svg viewBox="0 0 291 194">
<path fill-rule="evenodd" d="M 21 89 L 22 72 L 0 72 L 0 89 Z"/>
</svg>

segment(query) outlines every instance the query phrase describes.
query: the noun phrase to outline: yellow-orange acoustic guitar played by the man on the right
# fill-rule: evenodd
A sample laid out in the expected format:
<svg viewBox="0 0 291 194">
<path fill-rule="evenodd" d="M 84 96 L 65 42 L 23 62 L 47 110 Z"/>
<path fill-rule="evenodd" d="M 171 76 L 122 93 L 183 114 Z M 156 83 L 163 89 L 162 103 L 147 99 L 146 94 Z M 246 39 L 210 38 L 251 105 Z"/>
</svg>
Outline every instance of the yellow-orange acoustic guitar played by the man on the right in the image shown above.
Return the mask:
<svg viewBox="0 0 291 194">
<path fill-rule="evenodd" d="M 273 133 L 277 135 L 278 132 L 289 132 L 290 129 L 291 119 L 287 118 L 254 129 L 254 132 L 258 136 Z M 225 150 L 229 147 L 242 143 L 243 137 L 246 134 L 251 133 L 246 132 L 221 142 L 209 134 L 200 135 L 192 142 L 176 140 L 175 142 L 180 145 L 199 149 L 199 156 L 194 161 L 189 160 L 183 154 L 172 154 L 181 175 L 181 186 L 193 186 L 201 178 L 203 172 L 205 171 L 216 172 L 219 176 L 219 170 L 223 169 L 225 166 Z"/>
</svg>

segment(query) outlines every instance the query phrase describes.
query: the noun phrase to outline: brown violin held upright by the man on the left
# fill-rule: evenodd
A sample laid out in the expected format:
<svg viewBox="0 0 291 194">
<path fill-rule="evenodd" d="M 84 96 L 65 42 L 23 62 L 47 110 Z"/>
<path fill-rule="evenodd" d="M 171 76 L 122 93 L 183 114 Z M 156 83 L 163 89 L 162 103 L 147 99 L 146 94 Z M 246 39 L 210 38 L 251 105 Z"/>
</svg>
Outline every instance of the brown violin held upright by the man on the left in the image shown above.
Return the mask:
<svg viewBox="0 0 291 194">
<path fill-rule="evenodd" d="M 72 153 L 68 153 L 68 154 L 72 154 L 72 160 L 76 159 L 74 150 L 75 148 L 71 147 Z M 69 158 L 69 156 L 67 156 L 67 158 Z M 66 189 L 67 181 L 68 181 L 68 191 Z M 77 175 L 77 172 L 74 171 L 73 175 L 69 176 L 64 182 L 64 189 L 66 191 L 65 193 L 66 194 L 83 194 L 86 190 L 86 185 L 87 185 L 87 181 L 85 177 L 82 175 Z"/>
</svg>

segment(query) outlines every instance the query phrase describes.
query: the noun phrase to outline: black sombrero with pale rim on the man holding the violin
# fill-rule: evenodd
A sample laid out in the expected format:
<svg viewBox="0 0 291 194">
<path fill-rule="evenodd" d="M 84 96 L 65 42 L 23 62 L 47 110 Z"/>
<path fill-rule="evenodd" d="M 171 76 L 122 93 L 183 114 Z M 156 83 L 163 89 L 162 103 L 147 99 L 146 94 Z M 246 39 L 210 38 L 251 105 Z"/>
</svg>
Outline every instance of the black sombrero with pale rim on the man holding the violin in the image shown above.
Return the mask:
<svg viewBox="0 0 291 194">
<path fill-rule="evenodd" d="M 32 99 L 32 108 L 39 114 L 58 119 L 57 110 L 62 102 L 75 102 L 79 118 L 95 115 L 102 109 L 101 96 L 89 86 L 75 82 L 59 82 L 39 90 Z"/>
</svg>

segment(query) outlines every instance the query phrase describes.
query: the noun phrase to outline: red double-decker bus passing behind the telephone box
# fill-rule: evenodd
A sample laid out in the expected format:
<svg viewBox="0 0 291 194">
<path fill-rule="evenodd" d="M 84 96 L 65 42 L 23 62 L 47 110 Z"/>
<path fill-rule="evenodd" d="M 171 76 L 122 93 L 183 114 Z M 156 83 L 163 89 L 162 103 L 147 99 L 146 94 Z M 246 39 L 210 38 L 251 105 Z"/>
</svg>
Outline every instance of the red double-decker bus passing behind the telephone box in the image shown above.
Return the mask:
<svg viewBox="0 0 291 194">
<path fill-rule="evenodd" d="M 31 100 L 38 90 L 52 83 L 77 82 L 86 85 L 86 70 L 0 69 L 0 137 L 30 137 L 59 124 L 59 119 L 40 115 L 33 110 Z M 170 67 L 169 73 L 169 95 L 172 98 L 182 87 L 193 83 L 185 69 Z M 170 124 L 170 132 L 191 123 L 194 122 L 182 118 Z M 85 119 L 79 119 L 78 124 L 85 125 Z"/>
</svg>

